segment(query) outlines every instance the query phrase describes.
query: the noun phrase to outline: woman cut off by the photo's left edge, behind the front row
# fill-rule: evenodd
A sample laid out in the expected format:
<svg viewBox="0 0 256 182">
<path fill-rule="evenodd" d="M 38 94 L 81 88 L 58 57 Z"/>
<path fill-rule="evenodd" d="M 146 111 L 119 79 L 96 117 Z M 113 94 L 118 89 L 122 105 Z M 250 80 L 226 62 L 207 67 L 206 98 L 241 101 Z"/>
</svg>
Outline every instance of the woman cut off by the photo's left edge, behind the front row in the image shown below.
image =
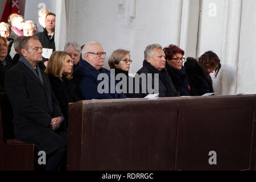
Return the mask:
<svg viewBox="0 0 256 182">
<path fill-rule="evenodd" d="M 0 36 L 0 88 L 4 92 L 5 74 L 14 65 L 10 63 L 11 56 L 8 55 L 8 40 Z"/>
</svg>

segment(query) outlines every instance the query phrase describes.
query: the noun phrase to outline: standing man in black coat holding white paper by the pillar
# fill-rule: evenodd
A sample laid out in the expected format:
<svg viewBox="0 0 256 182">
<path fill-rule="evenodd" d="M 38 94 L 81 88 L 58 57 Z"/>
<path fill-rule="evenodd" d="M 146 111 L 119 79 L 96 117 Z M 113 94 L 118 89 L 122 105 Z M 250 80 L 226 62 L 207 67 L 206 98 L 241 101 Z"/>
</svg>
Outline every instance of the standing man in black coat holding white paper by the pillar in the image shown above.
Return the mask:
<svg viewBox="0 0 256 182">
<path fill-rule="evenodd" d="M 43 32 L 38 32 L 34 36 L 38 36 L 42 44 L 44 61 L 49 59 L 52 52 L 55 51 L 55 14 L 49 13 L 46 15 L 46 28 Z"/>
</svg>

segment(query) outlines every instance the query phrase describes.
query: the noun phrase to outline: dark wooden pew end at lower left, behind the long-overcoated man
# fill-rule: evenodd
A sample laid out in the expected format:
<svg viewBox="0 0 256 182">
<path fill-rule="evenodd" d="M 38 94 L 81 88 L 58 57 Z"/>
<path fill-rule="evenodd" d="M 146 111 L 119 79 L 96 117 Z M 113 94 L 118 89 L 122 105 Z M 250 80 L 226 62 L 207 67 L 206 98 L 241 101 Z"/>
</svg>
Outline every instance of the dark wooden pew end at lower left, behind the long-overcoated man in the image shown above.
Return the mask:
<svg viewBox="0 0 256 182">
<path fill-rule="evenodd" d="M 0 93 L 0 171 L 35 169 L 35 146 L 16 140 L 13 110 L 5 93 Z"/>
</svg>

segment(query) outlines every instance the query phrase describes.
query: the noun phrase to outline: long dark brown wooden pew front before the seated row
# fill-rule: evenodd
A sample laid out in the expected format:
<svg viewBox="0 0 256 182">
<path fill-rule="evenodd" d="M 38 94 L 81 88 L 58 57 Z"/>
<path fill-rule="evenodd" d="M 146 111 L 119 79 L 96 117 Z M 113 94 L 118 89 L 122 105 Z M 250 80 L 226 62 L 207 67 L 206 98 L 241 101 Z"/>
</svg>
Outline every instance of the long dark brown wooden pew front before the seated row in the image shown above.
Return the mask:
<svg viewBox="0 0 256 182">
<path fill-rule="evenodd" d="M 254 170 L 255 105 L 256 95 L 69 104 L 67 169 Z"/>
</svg>

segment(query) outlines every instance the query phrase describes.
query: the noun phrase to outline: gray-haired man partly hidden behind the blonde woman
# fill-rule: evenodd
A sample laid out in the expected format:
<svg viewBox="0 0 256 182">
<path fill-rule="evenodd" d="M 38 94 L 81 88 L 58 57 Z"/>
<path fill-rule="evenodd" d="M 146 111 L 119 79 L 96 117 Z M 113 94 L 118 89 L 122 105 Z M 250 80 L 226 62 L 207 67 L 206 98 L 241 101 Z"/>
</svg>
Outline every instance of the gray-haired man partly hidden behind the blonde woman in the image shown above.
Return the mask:
<svg viewBox="0 0 256 182">
<path fill-rule="evenodd" d="M 64 51 L 72 55 L 73 70 L 79 65 L 81 59 L 81 46 L 76 42 L 68 42 L 65 44 Z"/>
</svg>

